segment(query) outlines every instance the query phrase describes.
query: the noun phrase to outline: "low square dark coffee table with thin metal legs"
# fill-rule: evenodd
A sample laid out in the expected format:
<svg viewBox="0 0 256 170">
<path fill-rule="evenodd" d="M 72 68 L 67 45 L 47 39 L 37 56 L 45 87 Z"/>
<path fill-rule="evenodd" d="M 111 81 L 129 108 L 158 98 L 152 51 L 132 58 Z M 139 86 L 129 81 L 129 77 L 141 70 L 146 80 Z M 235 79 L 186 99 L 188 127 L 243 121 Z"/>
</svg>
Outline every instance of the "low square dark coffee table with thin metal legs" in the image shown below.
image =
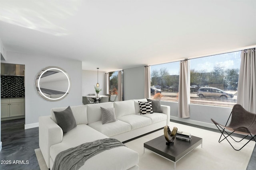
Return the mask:
<svg viewBox="0 0 256 170">
<path fill-rule="evenodd" d="M 145 149 L 158 154 L 171 162 L 174 162 L 174 169 L 176 168 L 176 162 L 183 158 L 186 154 L 194 150 L 199 145 L 202 146 L 203 139 L 199 137 L 192 136 L 190 142 L 181 139 L 174 139 L 174 143 L 166 145 L 166 140 L 164 135 L 152 139 L 144 143 L 144 153 Z"/>
</svg>

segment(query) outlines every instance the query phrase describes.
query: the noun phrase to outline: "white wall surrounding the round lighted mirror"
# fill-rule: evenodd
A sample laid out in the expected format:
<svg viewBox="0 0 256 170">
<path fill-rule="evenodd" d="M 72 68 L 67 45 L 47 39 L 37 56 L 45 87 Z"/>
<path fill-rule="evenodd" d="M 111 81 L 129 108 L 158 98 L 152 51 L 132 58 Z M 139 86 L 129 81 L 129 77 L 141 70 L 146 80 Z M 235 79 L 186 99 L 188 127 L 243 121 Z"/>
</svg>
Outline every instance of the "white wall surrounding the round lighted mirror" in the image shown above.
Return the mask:
<svg viewBox="0 0 256 170">
<path fill-rule="evenodd" d="M 50 115 L 53 107 L 76 106 L 82 104 L 82 62 L 61 58 L 26 55 L 7 52 L 7 61 L 25 65 L 25 129 L 37 127 L 38 117 Z M 35 82 L 40 71 L 48 66 L 63 68 L 71 80 L 70 93 L 60 101 L 48 101 L 37 92 Z"/>
</svg>

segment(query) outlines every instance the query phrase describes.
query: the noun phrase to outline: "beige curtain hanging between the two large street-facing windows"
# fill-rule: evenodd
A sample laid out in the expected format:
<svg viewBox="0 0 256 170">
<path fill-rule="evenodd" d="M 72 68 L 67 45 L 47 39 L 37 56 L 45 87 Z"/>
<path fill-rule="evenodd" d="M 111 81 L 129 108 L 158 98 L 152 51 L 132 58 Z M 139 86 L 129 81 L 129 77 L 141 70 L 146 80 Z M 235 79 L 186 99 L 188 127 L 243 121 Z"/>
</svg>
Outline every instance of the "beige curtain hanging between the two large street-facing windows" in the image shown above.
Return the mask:
<svg viewBox="0 0 256 170">
<path fill-rule="evenodd" d="M 180 61 L 180 80 L 179 80 L 179 98 L 178 98 L 178 117 L 190 117 L 190 74 L 189 61 Z"/>
</svg>

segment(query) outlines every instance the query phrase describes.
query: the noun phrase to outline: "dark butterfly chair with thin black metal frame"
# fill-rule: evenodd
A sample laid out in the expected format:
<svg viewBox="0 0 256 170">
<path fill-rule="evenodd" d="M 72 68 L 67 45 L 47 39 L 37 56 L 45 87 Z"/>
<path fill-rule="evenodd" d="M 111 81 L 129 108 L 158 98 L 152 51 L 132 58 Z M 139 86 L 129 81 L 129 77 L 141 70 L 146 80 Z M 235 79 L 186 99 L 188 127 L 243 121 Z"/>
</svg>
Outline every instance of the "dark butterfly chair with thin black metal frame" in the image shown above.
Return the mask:
<svg viewBox="0 0 256 170">
<path fill-rule="evenodd" d="M 229 123 L 229 125 L 227 125 L 230 117 L 231 117 L 230 123 Z M 246 144 L 244 144 L 240 149 L 235 149 L 233 147 L 233 145 L 230 143 L 230 141 L 228 141 L 228 143 L 232 146 L 232 148 L 234 150 L 241 150 L 252 139 L 256 142 L 256 114 L 246 111 L 246 109 L 244 109 L 244 107 L 242 107 L 240 104 L 235 104 L 233 106 L 232 112 L 230 113 L 230 115 L 228 117 L 228 121 L 225 126 L 217 123 L 213 119 L 211 119 L 211 120 L 221 132 L 219 143 L 221 141 L 223 141 L 224 139 L 226 139 L 228 141 L 228 137 L 230 137 L 231 139 L 236 141 L 231 136 L 232 133 L 246 135 L 243 139 L 245 139 L 248 136 L 251 137 L 250 140 L 248 140 L 248 142 Z M 228 131 L 230 131 L 231 133 L 228 133 L 226 131 L 226 129 Z M 221 140 L 222 135 L 223 135 L 224 139 Z M 236 141 L 236 142 L 241 142 L 243 139 L 241 139 L 240 141 Z"/>
</svg>

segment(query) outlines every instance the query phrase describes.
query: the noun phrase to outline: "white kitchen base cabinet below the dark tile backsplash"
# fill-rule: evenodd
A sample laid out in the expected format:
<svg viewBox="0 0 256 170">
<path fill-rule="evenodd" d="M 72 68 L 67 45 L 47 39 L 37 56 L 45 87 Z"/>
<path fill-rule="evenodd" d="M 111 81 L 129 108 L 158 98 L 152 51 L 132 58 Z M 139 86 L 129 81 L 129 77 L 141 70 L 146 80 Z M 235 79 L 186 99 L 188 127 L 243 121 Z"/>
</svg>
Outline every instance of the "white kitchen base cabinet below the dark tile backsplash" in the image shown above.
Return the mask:
<svg viewBox="0 0 256 170">
<path fill-rule="evenodd" d="M 24 115 L 24 98 L 1 99 L 1 118 Z"/>
</svg>

